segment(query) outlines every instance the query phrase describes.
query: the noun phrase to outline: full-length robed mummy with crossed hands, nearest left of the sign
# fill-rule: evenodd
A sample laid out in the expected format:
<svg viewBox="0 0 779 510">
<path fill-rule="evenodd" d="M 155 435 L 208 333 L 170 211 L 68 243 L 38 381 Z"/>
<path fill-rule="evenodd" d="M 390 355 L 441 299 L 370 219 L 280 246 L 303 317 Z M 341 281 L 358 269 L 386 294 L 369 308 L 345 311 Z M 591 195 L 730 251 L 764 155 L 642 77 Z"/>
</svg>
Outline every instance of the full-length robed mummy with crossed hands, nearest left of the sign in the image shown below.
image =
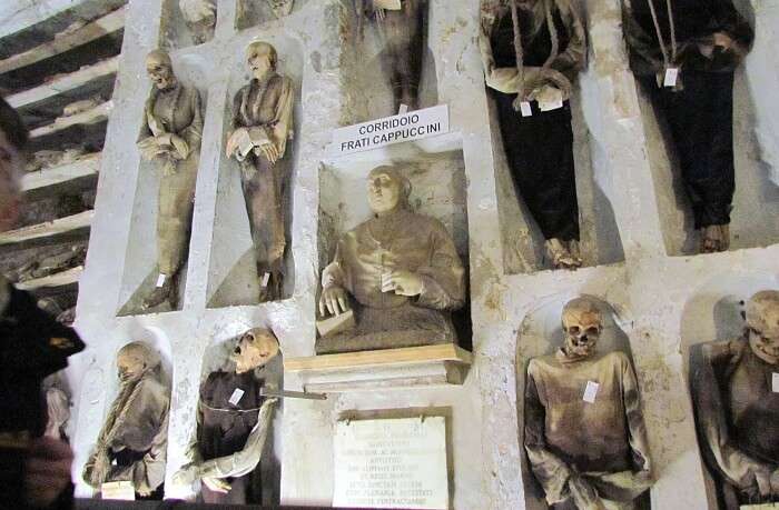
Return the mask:
<svg viewBox="0 0 779 510">
<path fill-rule="evenodd" d="M 284 158 L 293 136 L 293 86 L 276 72 L 276 49 L 253 42 L 246 58 L 254 79 L 238 91 L 233 103 L 233 132 L 227 156 L 240 162 L 246 209 L 260 278 L 260 301 L 282 297 L 285 189 Z"/>
</svg>

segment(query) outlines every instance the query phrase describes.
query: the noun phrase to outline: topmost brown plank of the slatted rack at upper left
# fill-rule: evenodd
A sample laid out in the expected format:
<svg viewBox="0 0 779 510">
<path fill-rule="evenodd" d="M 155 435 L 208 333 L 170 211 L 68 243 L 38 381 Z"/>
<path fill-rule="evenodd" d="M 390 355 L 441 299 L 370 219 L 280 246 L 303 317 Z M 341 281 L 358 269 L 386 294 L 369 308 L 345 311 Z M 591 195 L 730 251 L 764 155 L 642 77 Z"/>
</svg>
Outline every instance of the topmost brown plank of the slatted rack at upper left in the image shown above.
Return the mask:
<svg viewBox="0 0 779 510">
<path fill-rule="evenodd" d="M 80 29 L 51 41 L 45 42 L 23 53 L 14 54 L 6 60 L 0 60 L 0 73 L 13 71 L 41 60 L 63 53 L 79 46 L 83 46 L 108 33 L 116 32 L 125 26 L 125 8 L 117 9 L 101 18 L 91 21 Z"/>
</svg>

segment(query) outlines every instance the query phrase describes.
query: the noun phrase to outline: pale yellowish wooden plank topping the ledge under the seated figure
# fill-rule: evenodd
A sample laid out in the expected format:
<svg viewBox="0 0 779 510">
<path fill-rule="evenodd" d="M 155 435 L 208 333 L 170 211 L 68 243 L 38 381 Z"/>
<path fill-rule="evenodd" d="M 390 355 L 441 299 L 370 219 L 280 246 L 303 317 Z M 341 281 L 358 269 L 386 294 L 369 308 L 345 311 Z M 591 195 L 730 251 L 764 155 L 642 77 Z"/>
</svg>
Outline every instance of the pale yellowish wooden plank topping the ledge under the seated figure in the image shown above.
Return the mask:
<svg viewBox="0 0 779 510">
<path fill-rule="evenodd" d="M 430 363 L 432 361 L 455 361 L 470 364 L 473 354 L 453 344 L 407 347 L 375 351 L 344 352 L 343 354 L 323 354 L 308 358 L 293 358 L 284 361 L 284 369 L 290 372 L 307 370 L 342 370 L 386 364 Z"/>
</svg>

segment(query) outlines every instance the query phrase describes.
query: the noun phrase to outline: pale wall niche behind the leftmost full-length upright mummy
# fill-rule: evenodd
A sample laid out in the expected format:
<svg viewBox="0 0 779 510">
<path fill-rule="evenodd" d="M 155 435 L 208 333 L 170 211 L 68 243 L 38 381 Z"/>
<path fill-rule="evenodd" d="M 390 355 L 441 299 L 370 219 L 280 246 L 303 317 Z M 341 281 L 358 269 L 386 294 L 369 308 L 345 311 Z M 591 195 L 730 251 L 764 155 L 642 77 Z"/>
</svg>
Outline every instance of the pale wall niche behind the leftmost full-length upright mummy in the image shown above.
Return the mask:
<svg viewBox="0 0 779 510">
<path fill-rule="evenodd" d="M 210 80 L 209 76 L 211 76 L 208 71 L 210 64 L 200 56 L 194 53 L 184 54 L 180 58 L 174 56 L 171 57 L 171 60 L 174 64 L 174 72 L 181 83 L 188 87 L 196 87 L 200 92 L 200 107 L 205 124 L 206 106 L 208 102 L 208 86 Z M 152 87 L 149 80 L 142 80 L 140 87 L 144 87 L 145 94 L 148 97 L 148 93 L 151 91 Z M 145 108 L 145 102 L 141 104 L 144 104 L 141 108 Z M 142 119 L 142 116 L 139 116 L 139 118 Z M 161 170 L 158 169 L 154 162 L 147 161 L 140 157 L 136 142 L 140 134 L 141 126 L 136 126 L 134 128 L 135 129 L 129 130 L 125 150 L 132 151 L 137 154 L 136 161 L 138 162 L 138 182 L 132 204 L 132 219 L 130 222 L 130 231 L 126 248 L 127 264 L 124 268 L 122 284 L 119 294 L 119 316 L 170 311 L 170 307 L 167 302 L 164 302 L 162 304 L 148 311 L 142 311 L 140 308 L 144 298 L 151 292 L 157 284 L 158 278 L 157 217 Z M 203 156 L 203 150 L 200 151 L 200 156 Z M 213 170 L 207 166 L 204 166 L 204 161 L 200 159 L 198 173 L 204 171 L 207 172 Z M 195 196 L 195 203 L 197 203 L 197 194 Z M 186 277 L 188 251 L 189 250 L 185 251 L 185 260 L 178 272 L 179 309 L 184 302 L 184 290 L 187 284 Z"/>
</svg>

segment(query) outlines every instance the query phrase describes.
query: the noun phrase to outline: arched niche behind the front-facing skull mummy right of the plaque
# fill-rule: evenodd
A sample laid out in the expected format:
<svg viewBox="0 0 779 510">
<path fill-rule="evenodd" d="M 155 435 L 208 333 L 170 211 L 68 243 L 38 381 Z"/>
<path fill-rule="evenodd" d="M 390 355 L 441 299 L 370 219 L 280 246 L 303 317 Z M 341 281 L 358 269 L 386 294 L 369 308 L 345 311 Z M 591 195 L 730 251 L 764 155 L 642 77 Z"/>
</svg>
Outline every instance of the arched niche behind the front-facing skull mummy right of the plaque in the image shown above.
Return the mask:
<svg viewBox="0 0 779 510">
<path fill-rule="evenodd" d="M 516 339 L 516 413 L 519 422 L 520 449 L 521 449 L 521 473 L 524 487 L 525 509 L 546 510 L 550 507 L 544 499 L 544 492 L 535 480 L 533 471 L 524 450 L 524 394 L 527 379 L 527 363 L 531 359 L 541 356 L 552 354 L 563 344 L 563 331 L 561 324 L 562 310 L 566 302 L 580 294 L 555 294 L 550 297 L 539 307 L 530 310 L 522 320 Z M 637 370 L 633 354 L 630 348 L 628 334 L 632 329 L 632 319 L 619 306 L 612 306 L 595 296 L 583 294 L 594 299 L 601 310 L 603 318 L 603 331 L 598 341 L 598 352 L 605 353 L 612 351 L 624 352 Z M 615 308 L 617 307 L 617 308 Z M 639 389 L 641 391 L 641 389 Z M 642 401 L 647 398 L 641 394 Z M 649 491 L 644 492 L 637 500 L 637 509 L 650 509 Z"/>
</svg>

